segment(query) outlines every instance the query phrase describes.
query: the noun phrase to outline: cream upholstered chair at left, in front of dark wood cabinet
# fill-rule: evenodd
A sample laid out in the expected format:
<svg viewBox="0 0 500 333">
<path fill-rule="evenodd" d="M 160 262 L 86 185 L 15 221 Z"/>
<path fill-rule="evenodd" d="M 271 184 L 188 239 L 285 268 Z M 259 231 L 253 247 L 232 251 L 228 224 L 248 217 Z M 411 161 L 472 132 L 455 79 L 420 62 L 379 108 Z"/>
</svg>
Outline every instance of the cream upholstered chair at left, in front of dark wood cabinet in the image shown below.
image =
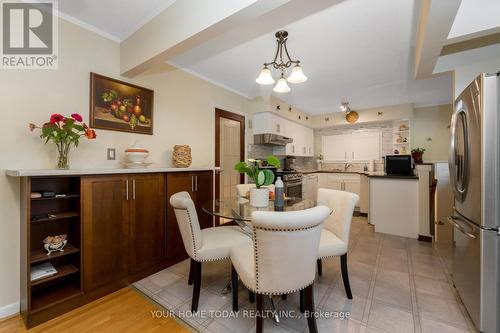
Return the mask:
<svg viewBox="0 0 500 333">
<path fill-rule="evenodd" d="M 188 192 L 178 192 L 170 197 L 182 236 L 184 248 L 191 258 L 188 284 L 193 286 L 191 311 L 198 311 L 201 288 L 201 264 L 229 258 L 233 246 L 251 245 L 252 239 L 238 226 L 221 226 L 200 229 L 198 214 Z"/>
</svg>

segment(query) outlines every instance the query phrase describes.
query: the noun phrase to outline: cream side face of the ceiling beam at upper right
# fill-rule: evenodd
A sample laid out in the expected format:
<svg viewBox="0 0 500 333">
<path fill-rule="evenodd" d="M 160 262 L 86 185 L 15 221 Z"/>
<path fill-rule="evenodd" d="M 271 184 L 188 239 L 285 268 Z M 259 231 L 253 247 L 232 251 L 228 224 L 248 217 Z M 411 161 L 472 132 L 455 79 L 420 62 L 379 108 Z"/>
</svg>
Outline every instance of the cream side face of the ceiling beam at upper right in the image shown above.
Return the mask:
<svg viewBox="0 0 500 333">
<path fill-rule="evenodd" d="M 462 0 L 422 0 L 415 47 L 415 78 L 432 76 Z"/>
</svg>

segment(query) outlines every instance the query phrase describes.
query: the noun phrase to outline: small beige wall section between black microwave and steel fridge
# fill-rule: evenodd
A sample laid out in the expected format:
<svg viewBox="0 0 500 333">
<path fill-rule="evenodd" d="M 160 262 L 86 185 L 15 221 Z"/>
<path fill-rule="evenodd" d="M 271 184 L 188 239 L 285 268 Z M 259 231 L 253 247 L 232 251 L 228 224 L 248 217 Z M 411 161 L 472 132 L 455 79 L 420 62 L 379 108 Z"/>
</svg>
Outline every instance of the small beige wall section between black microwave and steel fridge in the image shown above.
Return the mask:
<svg viewBox="0 0 500 333">
<path fill-rule="evenodd" d="M 411 122 L 412 148 L 425 148 L 425 162 L 448 160 L 451 104 L 415 108 Z M 430 139 L 430 140 L 429 140 Z"/>
</svg>

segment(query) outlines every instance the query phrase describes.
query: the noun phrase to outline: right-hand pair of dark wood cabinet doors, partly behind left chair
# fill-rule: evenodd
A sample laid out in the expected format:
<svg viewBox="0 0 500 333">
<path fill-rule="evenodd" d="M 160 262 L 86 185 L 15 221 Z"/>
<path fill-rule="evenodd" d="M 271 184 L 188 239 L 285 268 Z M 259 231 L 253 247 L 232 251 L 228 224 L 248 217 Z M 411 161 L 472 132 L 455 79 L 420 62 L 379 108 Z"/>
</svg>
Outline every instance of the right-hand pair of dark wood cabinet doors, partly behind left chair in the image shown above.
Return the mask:
<svg viewBox="0 0 500 333">
<path fill-rule="evenodd" d="M 202 205 L 213 200 L 213 173 L 211 171 L 199 172 L 173 172 L 167 174 L 167 201 L 170 197 L 181 191 L 189 193 L 193 199 L 200 221 L 200 227 L 213 226 L 211 215 L 202 211 Z M 188 257 L 182 237 L 175 218 L 174 209 L 167 205 L 167 259 L 169 265 L 180 262 Z"/>
</svg>

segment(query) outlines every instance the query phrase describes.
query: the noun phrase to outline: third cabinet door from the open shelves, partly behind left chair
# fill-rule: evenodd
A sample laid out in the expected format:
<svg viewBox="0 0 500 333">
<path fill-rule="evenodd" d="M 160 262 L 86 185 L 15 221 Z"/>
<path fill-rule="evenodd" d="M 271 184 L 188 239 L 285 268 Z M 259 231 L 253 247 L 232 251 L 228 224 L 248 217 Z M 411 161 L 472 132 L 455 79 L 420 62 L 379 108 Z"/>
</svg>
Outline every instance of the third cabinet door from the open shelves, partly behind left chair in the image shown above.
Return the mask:
<svg viewBox="0 0 500 333">
<path fill-rule="evenodd" d="M 181 232 L 175 218 L 174 209 L 168 203 L 170 197 L 177 193 L 186 191 L 194 198 L 194 177 L 190 172 L 169 172 L 167 173 L 167 260 L 169 265 L 173 265 L 188 257 L 182 242 Z"/>
</svg>

